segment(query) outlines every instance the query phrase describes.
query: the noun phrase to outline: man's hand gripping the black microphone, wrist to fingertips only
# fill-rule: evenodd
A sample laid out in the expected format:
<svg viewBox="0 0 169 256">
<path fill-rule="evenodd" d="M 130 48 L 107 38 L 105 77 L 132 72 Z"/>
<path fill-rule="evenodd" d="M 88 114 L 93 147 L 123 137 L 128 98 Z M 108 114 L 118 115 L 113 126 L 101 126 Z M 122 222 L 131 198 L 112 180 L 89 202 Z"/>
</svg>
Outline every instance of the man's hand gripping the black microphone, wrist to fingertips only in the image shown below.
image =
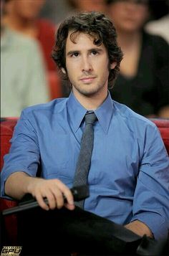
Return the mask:
<svg viewBox="0 0 169 256">
<path fill-rule="evenodd" d="M 60 209 L 63 206 L 69 210 L 74 209 L 74 199 L 70 189 L 59 181 L 59 179 L 40 179 L 34 178 L 28 186 L 29 194 L 32 194 L 42 209 Z M 67 203 L 64 203 L 64 197 L 67 199 Z M 48 204 L 44 202 L 44 198 L 47 198 Z"/>
</svg>

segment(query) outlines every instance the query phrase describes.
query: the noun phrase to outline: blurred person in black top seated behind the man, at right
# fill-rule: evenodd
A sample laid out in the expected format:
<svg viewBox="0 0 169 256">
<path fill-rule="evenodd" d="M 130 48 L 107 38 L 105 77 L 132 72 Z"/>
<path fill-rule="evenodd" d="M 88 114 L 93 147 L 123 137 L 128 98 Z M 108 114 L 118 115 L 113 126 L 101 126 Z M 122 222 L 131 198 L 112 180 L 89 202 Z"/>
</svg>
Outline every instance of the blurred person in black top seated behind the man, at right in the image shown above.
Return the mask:
<svg viewBox="0 0 169 256">
<path fill-rule="evenodd" d="M 124 52 L 112 98 L 147 117 L 169 117 L 168 43 L 144 31 L 148 0 L 108 0 L 107 13 Z"/>
</svg>

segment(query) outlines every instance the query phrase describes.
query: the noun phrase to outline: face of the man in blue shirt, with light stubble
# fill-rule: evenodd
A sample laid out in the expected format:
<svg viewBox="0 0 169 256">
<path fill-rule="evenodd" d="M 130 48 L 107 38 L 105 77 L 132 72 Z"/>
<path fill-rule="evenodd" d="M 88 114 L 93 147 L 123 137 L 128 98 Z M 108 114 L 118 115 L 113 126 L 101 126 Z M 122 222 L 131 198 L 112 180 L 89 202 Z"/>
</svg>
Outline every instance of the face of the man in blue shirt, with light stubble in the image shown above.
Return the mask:
<svg viewBox="0 0 169 256">
<path fill-rule="evenodd" d="M 93 37 L 82 32 L 74 34 L 72 42 L 70 34 L 66 43 L 66 67 L 74 95 L 107 94 L 109 59 L 105 45 L 95 45 Z"/>
</svg>

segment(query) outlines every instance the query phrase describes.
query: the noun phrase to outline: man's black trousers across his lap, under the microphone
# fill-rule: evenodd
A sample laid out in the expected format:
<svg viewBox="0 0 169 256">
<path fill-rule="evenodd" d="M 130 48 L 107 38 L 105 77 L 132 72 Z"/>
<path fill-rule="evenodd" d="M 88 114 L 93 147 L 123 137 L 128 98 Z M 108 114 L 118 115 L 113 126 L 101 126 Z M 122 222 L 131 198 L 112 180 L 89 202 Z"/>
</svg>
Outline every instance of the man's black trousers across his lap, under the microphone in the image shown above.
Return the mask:
<svg viewBox="0 0 169 256">
<path fill-rule="evenodd" d="M 154 240 L 79 207 L 20 212 L 19 245 L 22 255 L 160 255 Z"/>
</svg>

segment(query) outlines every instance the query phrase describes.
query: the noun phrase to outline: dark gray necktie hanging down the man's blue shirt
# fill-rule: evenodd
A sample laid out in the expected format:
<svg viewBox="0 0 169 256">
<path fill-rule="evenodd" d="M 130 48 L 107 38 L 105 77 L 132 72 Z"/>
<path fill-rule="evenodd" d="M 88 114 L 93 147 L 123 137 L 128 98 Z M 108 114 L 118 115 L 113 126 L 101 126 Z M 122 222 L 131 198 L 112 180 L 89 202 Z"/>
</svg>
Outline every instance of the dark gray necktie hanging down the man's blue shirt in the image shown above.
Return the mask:
<svg viewBox="0 0 169 256">
<path fill-rule="evenodd" d="M 93 125 L 97 117 L 94 112 L 88 112 L 84 116 L 85 128 L 82 136 L 82 142 L 77 161 L 77 168 L 74 174 L 73 186 L 87 184 L 87 176 L 90 170 L 90 161 L 92 157 L 92 148 L 94 141 Z M 83 208 L 84 200 L 75 203 L 78 207 Z"/>
</svg>

